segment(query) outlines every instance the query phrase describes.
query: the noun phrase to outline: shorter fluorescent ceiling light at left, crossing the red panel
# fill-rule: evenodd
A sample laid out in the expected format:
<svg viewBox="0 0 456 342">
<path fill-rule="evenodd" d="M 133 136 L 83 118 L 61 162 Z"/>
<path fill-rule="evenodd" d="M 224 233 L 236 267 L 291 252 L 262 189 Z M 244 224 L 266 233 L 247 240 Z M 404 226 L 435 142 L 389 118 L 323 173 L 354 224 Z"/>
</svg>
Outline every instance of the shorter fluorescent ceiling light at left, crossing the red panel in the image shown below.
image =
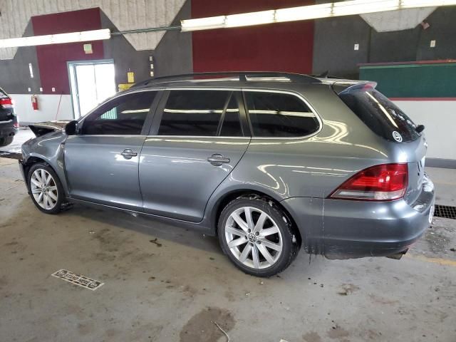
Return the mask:
<svg viewBox="0 0 456 342">
<path fill-rule="evenodd" d="M 80 41 L 100 41 L 109 39 L 109 28 L 93 31 L 49 34 L 46 36 L 31 36 L 22 38 L 0 39 L 0 48 L 17 48 L 20 46 L 38 46 L 60 43 L 77 43 Z"/>
</svg>

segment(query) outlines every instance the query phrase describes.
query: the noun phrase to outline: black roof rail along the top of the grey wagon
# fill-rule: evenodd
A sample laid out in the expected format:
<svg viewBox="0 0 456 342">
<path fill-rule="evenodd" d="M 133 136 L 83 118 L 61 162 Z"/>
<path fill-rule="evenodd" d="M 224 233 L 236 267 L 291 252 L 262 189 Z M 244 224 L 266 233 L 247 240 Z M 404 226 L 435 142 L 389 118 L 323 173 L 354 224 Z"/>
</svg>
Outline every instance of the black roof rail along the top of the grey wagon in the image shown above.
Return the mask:
<svg viewBox="0 0 456 342">
<path fill-rule="evenodd" d="M 283 77 L 289 78 L 290 81 L 299 83 L 321 83 L 318 78 L 313 76 L 303 75 L 301 73 L 284 73 L 274 71 L 220 71 L 220 72 L 205 72 L 205 73 L 182 73 L 180 75 L 159 76 L 150 78 L 146 81 L 135 83 L 133 87 L 147 86 L 152 83 L 160 83 L 163 81 L 184 81 L 187 78 L 195 78 L 201 76 L 237 76 L 239 81 L 248 81 L 249 76 L 252 77 Z"/>
</svg>

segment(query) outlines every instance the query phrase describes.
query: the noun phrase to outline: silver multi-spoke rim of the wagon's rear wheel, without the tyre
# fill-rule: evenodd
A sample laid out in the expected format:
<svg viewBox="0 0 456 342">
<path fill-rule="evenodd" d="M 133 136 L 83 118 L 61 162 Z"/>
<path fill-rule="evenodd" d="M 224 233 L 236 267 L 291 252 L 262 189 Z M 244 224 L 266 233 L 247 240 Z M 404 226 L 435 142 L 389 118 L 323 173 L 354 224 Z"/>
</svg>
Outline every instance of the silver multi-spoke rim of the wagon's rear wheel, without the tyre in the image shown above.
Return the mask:
<svg viewBox="0 0 456 342">
<path fill-rule="evenodd" d="M 241 207 L 229 215 L 225 239 L 234 257 L 252 269 L 273 266 L 283 249 L 276 222 L 256 207 Z"/>
</svg>

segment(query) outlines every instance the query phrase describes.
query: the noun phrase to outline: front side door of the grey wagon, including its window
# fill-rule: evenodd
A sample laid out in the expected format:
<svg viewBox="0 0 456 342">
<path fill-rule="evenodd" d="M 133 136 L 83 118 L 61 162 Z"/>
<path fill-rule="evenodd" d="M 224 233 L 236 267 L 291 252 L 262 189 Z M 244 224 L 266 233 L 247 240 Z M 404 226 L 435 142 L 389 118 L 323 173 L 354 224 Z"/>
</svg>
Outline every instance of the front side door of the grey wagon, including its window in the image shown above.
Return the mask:
<svg viewBox="0 0 456 342">
<path fill-rule="evenodd" d="M 71 197 L 142 210 L 138 165 L 157 91 L 120 95 L 94 110 L 65 143 Z"/>
</svg>

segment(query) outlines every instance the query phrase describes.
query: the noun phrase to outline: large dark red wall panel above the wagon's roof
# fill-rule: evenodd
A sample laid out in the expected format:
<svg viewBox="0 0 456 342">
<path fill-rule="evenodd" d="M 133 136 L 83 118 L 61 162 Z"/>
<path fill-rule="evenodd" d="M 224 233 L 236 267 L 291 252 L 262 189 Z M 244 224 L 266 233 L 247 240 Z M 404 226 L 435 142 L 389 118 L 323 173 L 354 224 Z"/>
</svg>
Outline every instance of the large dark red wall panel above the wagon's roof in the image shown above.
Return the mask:
<svg viewBox="0 0 456 342">
<path fill-rule="evenodd" d="M 299 0 L 192 0 L 192 18 L 314 4 Z M 192 33 L 193 69 L 311 73 L 314 21 L 219 28 Z"/>
</svg>

